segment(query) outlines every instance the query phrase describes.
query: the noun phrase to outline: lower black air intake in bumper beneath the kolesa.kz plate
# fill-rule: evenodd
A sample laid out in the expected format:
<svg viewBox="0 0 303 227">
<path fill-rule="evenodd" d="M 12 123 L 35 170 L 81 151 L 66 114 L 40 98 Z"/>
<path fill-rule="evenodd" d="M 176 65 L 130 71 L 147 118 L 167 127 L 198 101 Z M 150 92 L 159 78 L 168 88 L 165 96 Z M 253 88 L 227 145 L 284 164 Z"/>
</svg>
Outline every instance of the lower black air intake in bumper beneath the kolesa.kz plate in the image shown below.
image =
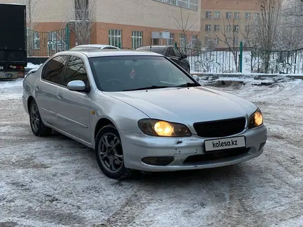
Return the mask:
<svg viewBox="0 0 303 227">
<path fill-rule="evenodd" d="M 203 155 L 192 155 L 189 156 L 183 163 L 184 164 L 196 164 L 198 162 L 209 162 L 216 160 L 223 160 L 227 158 L 236 158 L 237 156 L 247 154 L 249 152 L 248 148 L 238 148 L 238 149 L 226 149 L 207 152 Z"/>
</svg>

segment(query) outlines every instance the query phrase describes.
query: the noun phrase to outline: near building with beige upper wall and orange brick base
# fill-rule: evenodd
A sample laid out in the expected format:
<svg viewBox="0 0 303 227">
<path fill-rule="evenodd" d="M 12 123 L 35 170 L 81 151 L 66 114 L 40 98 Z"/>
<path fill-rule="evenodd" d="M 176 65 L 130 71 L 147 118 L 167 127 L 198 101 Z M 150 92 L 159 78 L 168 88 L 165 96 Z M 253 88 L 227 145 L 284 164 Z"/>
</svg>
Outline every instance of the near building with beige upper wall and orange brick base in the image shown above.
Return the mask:
<svg viewBox="0 0 303 227">
<path fill-rule="evenodd" d="M 194 24 L 188 31 L 189 34 L 197 34 L 195 30 L 200 30 L 200 0 L 32 0 L 31 6 L 28 6 L 31 12 L 28 21 L 32 23 L 28 23 L 31 24 L 28 27 L 34 30 L 30 35 L 34 49 L 41 49 L 43 40 L 50 46 L 50 43 L 56 43 L 62 38 L 59 32 L 52 34 L 50 31 L 64 32 L 66 25 L 71 27 L 79 12 L 79 8 L 76 8 L 77 1 L 89 1 L 92 4 L 87 12 L 92 14 L 90 18 L 94 21 L 90 43 L 130 48 L 149 44 L 174 45 L 175 41 L 180 43 L 183 38 L 178 30 L 178 23 L 182 21 L 181 14 L 186 19 L 189 15 L 187 28 Z M 1 2 L 21 3 L 21 0 Z M 70 47 L 76 45 L 76 36 L 72 30 L 69 39 Z"/>
</svg>

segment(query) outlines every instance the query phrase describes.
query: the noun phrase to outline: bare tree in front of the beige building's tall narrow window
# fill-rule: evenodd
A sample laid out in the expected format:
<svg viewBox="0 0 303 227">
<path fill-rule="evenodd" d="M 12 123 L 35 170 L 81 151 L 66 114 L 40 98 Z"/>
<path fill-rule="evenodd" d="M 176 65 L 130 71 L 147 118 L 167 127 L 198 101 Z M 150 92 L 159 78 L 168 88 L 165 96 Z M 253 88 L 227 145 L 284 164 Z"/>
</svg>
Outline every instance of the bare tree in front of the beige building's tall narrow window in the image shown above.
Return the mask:
<svg viewBox="0 0 303 227">
<path fill-rule="evenodd" d="M 72 31 L 76 34 L 76 44 L 90 43 L 94 29 L 96 0 L 74 0 L 74 18 L 71 22 Z"/>
</svg>

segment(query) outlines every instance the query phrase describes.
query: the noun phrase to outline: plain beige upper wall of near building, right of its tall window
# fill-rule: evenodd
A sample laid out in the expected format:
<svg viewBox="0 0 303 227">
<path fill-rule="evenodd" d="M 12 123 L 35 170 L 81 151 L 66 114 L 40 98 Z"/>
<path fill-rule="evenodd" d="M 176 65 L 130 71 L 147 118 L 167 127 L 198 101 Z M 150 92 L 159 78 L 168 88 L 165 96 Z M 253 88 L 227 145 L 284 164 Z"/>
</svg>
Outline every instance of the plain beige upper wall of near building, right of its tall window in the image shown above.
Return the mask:
<svg viewBox="0 0 303 227">
<path fill-rule="evenodd" d="M 182 8 L 183 18 L 187 19 L 189 15 L 187 28 L 195 24 L 193 28 L 200 29 L 200 9 L 200 1 L 198 10 Z M 97 4 L 96 11 L 96 21 L 104 23 L 176 30 L 177 21 L 181 22 L 180 7 L 154 0 L 102 0 L 102 4 Z"/>
</svg>

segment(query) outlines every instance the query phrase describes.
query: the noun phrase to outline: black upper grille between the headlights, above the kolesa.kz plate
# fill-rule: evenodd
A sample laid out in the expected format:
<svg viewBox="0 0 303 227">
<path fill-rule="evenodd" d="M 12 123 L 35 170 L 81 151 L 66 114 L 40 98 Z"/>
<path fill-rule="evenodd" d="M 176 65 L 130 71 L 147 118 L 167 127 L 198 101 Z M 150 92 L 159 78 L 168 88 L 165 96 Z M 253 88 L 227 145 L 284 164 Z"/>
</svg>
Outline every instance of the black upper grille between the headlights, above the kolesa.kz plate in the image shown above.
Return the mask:
<svg viewBox="0 0 303 227">
<path fill-rule="evenodd" d="M 245 123 L 245 118 L 197 122 L 194 123 L 194 129 L 198 136 L 204 138 L 218 138 L 240 133 L 244 130 Z"/>
</svg>

